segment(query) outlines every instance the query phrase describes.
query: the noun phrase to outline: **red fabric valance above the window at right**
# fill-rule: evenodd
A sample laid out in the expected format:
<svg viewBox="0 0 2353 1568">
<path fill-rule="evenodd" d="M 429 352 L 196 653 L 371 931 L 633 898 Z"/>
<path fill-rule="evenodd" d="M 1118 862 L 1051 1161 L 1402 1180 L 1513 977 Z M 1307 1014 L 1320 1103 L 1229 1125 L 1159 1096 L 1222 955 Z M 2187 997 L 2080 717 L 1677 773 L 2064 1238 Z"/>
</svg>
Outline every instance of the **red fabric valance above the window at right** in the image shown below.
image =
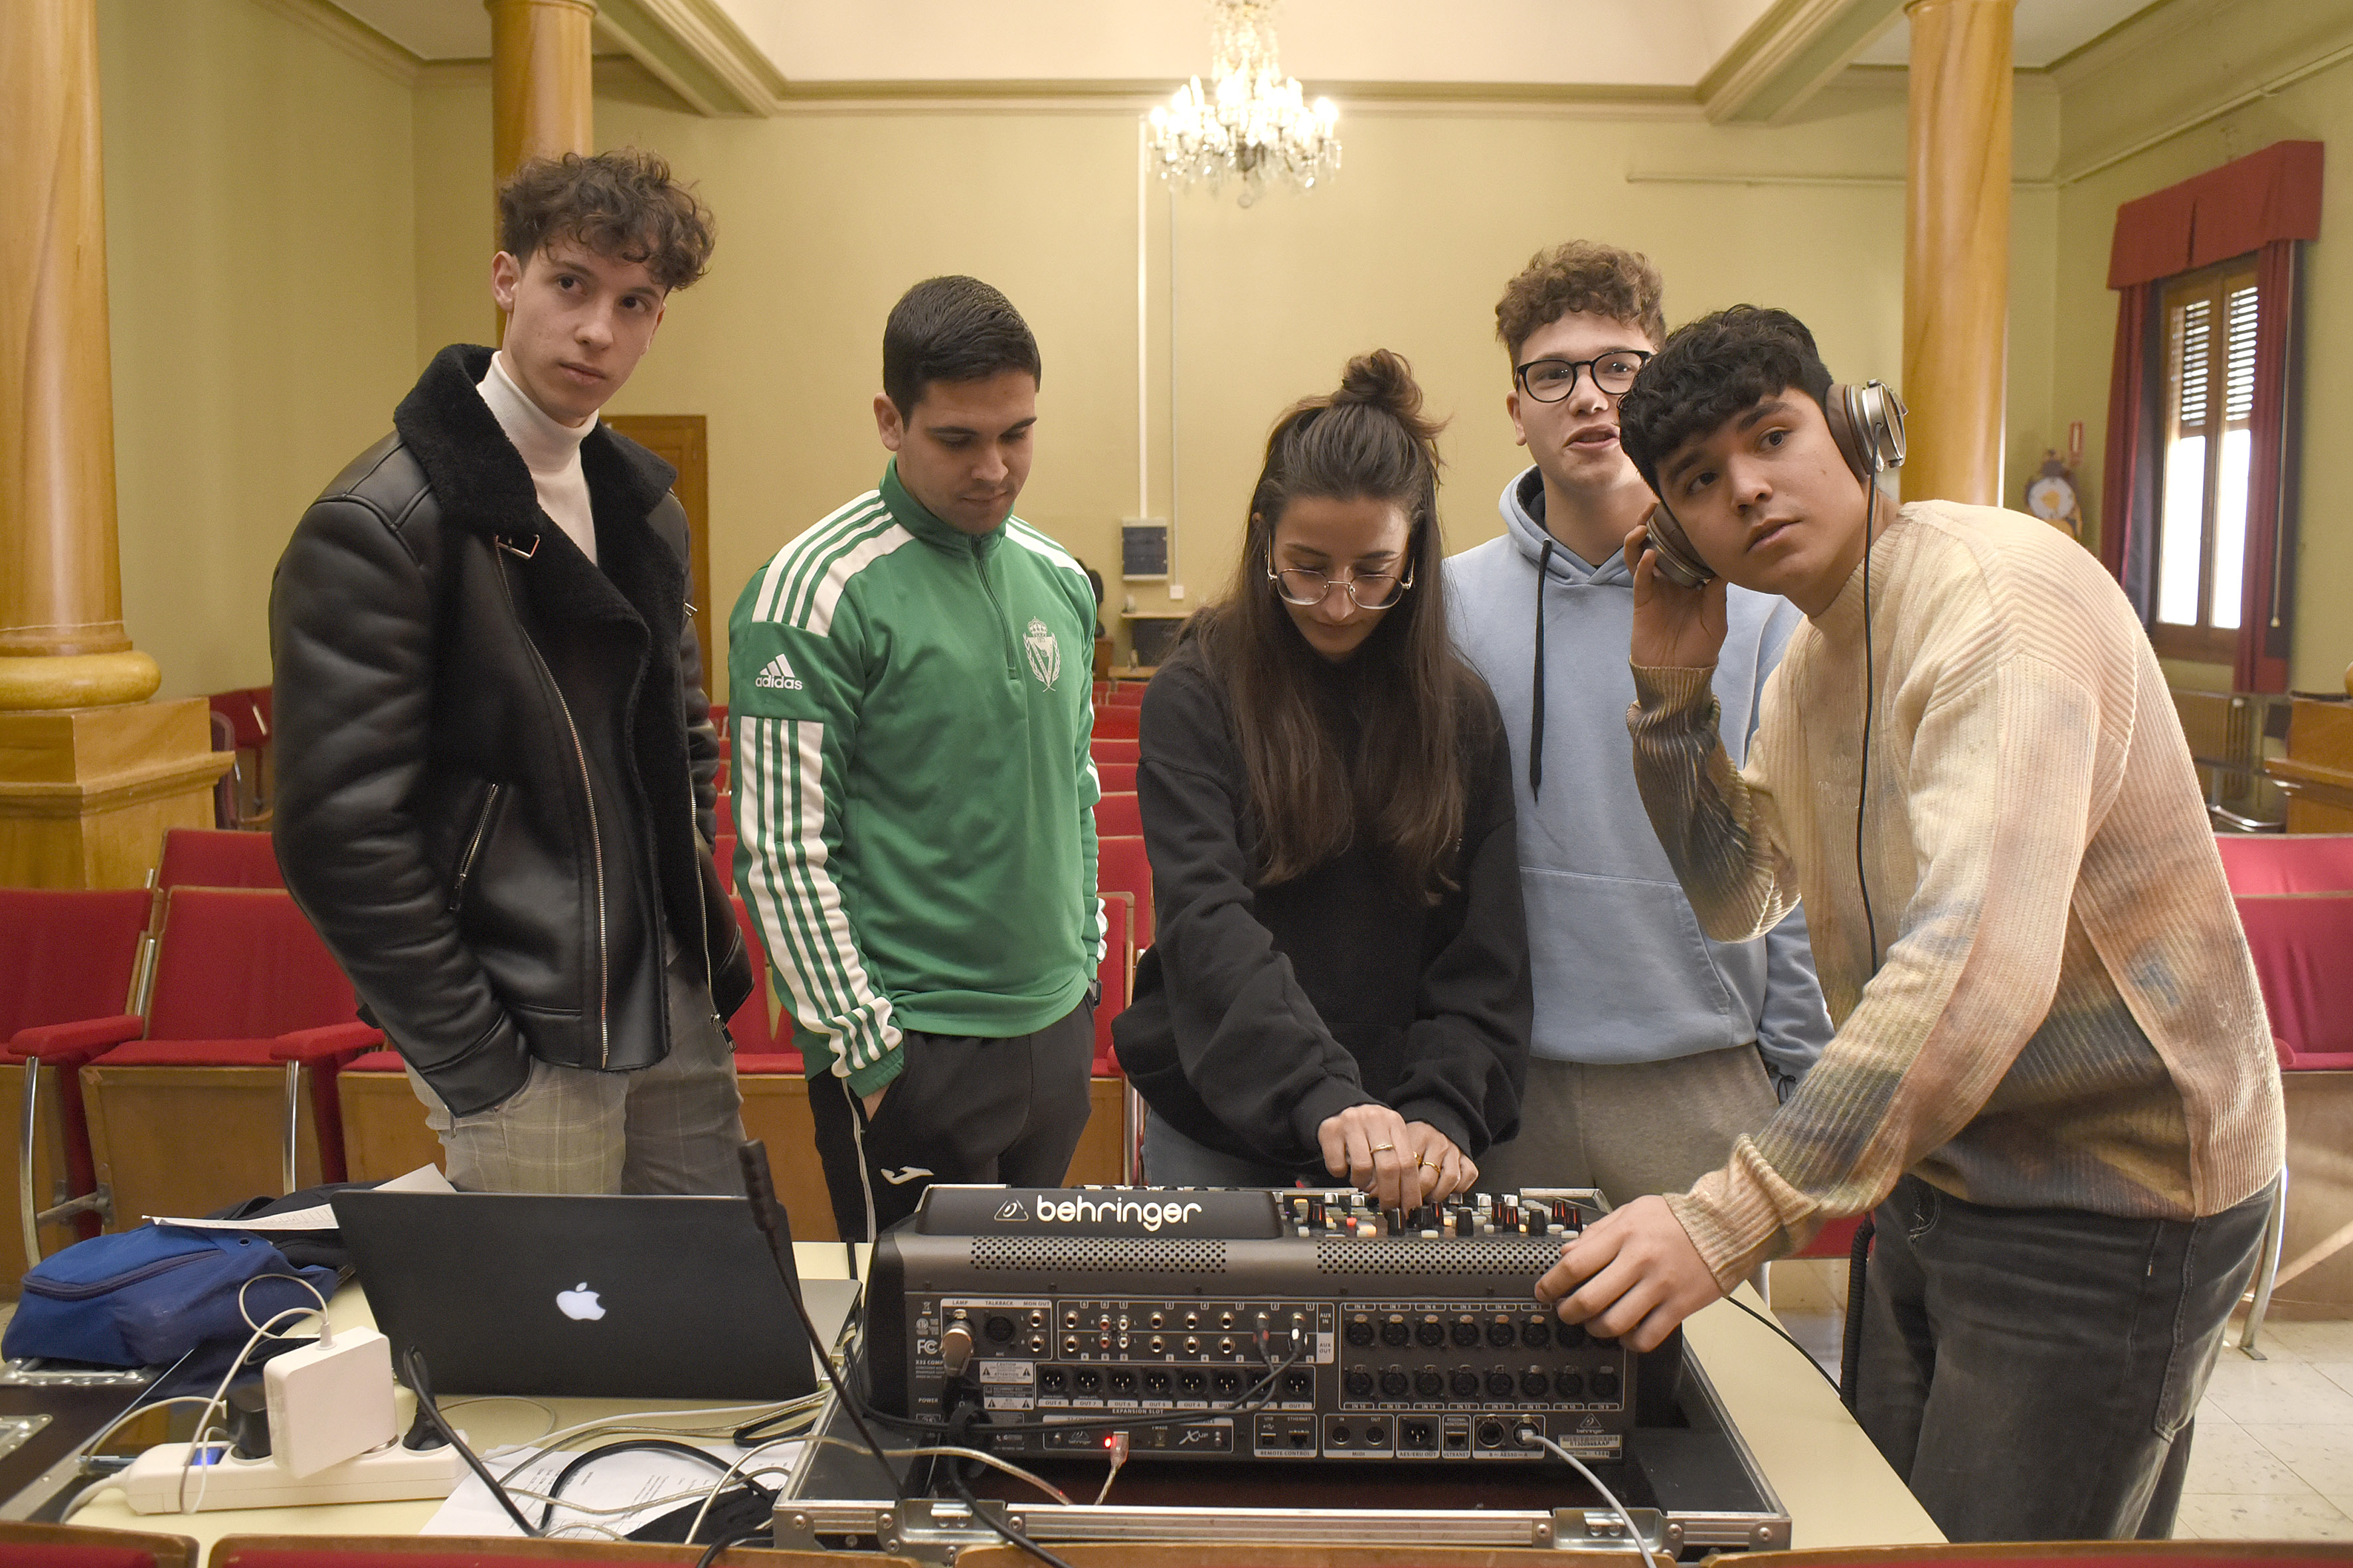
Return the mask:
<svg viewBox="0 0 2353 1568">
<path fill-rule="evenodd" d="M 2108 287 L 2129 289 L 2245 256 L 2273 240 L 2320 237 L 2318 141 L 2273 141 L 2219 169 L 2115 209 Z"/>
</svg>

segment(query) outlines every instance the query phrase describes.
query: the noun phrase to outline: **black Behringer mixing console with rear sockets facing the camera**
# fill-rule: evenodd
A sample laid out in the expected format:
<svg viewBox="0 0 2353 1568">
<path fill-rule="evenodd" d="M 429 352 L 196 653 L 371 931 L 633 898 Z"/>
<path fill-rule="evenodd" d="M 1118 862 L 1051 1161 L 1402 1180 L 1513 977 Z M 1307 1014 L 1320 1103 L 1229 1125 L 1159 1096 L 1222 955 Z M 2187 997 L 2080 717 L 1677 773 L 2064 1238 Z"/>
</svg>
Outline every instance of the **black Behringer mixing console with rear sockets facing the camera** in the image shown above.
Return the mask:
<svg viewBox="0 0 2353 1568">
<path fill-rule="evenodd" d="M 868 1380 L 896 1415 L 979 1399 L 1000 1453 L 1127 1429 L 1134 1460 L 1541 1460 L 1534 1427 L 1612 1460 L 1635 1356 L 1532 1298 L 1600 1213 L 1588 1190 L 932 1187 L 875 1246 Z"/>
</svg>

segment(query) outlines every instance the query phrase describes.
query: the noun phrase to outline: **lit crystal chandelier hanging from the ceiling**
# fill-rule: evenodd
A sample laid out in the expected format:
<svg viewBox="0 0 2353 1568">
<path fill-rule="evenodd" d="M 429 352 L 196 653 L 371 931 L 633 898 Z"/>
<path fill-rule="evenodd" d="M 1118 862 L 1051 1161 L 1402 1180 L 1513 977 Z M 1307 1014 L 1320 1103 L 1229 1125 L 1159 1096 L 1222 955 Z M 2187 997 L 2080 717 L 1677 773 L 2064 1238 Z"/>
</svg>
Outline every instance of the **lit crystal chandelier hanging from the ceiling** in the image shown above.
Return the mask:
<svg viewBox="0 0 2353 1568">
<path fill-rule="evenodd" d="M 1151 150 L 1160 179 L 1217 190 L 1228 174 L 1242 181 L 1242 207 L 1275 183 L 1313 190 L 1339 169 L 1339 108 L 1308 103 L 1299 80 L 1275 63 L 1275 5 L 1280 0 L 1209 0 L 1209 87 L 1200 78 L 1153 108 Z"/>
</svg>

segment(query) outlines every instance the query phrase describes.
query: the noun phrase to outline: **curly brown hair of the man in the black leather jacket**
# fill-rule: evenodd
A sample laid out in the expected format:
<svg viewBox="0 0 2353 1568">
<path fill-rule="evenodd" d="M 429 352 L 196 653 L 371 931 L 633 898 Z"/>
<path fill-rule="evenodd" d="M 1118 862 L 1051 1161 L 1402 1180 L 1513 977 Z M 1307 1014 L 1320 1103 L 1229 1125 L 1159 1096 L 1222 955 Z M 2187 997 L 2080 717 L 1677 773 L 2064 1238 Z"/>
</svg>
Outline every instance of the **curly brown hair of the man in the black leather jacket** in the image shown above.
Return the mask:
<svg viewBox="0 0 2353 1568">
<path fill-rule="evenodd" d="M 656 284 L 685 289 L 711 266 L 711 209 L 654 153 L 532 158 L 499 186 L 499 249 L 529 261 L 558 240 L 642 261 Z"/>
</svg>

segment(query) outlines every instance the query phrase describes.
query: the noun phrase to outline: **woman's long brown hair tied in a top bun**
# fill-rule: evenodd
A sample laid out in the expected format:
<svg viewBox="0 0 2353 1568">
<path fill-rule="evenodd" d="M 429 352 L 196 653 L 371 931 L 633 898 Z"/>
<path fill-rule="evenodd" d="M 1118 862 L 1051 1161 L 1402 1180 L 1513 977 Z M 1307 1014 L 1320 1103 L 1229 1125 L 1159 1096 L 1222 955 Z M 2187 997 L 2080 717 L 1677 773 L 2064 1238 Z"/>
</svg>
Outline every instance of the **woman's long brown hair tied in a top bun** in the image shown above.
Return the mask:
<svg viewBox="0 0 2353 1568">
<path fill-rule="evenodd" d="M 1438 531 L 1438 430 L 1412 367 L 1386 348 L 1348 362 L 1339 390 L 1275 421 L 1249 494 L 1249 531 L 1226 597 L 1186 623 L 1226 684 L 1259 818 L 1259 879 L 1289 882 L 1360 832 L 1400 882 L 1435 903 L 1464 825 L 1464 722 L 1471 672 L 1447 637 Z M 1388 501 L 1409 524 L 1414 585 L 1351 656 L 1358 736 L 1325 722 L 1322 656 L 1268 581 L 1275 524 L 1301 498 Z"/>
</svg>

